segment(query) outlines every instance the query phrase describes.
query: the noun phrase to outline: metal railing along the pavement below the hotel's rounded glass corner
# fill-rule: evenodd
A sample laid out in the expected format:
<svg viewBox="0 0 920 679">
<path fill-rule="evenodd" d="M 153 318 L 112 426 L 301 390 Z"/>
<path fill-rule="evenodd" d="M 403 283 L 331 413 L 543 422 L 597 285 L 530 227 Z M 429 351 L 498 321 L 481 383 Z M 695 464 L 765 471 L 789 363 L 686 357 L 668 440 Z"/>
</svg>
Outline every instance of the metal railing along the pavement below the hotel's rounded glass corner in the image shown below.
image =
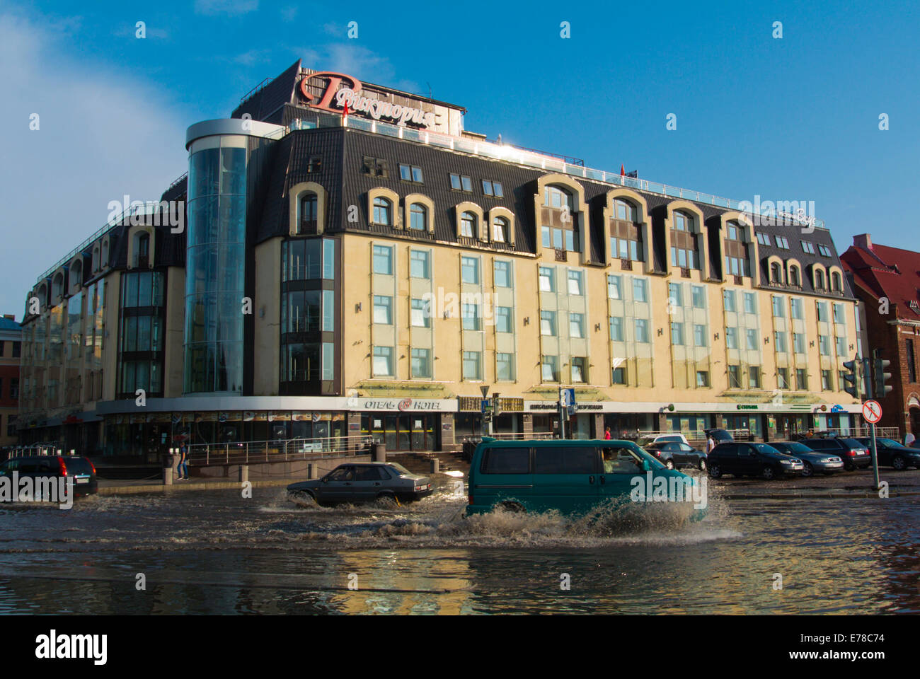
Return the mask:
<svg viewBox="0 0 920 679">
<path fill-rule="evenodd" d="M 321 457 L 367 455 L 373 443 L 376 443 L 376 440 L 374 436 L 369 435 L 284 439 L 282 441 L 195 443 L 189 446 L 189 465 L 254 465 Z"/>
</svg>

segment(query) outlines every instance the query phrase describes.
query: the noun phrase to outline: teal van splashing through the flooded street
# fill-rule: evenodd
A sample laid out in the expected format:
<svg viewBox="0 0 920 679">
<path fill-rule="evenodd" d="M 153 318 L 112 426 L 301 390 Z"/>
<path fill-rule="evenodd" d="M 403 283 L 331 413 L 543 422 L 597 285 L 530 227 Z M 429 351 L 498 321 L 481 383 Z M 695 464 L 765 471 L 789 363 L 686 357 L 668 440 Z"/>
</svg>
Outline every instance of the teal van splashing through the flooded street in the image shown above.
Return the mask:
<svg viewBox="0 0 920 679">
<path fill-rule="evenodd" d="M 499 507 L 514 512 L 565 514 L 592 511 L 606 501 L 649 501 L 646 489 L 662 501 L 700 495 L 700 481 L 668 469 L 632 441 L 541 440 L 498 441 L 483 437 L 469 467 L 469 505 L 466 514 L 491 512 Z M 682 487 L 678 490 L 679 487 Z M 677 491 L 677 492 L 675 492 Z M 695 519 L 705 512 L 698 509 Z"/>
</svg>

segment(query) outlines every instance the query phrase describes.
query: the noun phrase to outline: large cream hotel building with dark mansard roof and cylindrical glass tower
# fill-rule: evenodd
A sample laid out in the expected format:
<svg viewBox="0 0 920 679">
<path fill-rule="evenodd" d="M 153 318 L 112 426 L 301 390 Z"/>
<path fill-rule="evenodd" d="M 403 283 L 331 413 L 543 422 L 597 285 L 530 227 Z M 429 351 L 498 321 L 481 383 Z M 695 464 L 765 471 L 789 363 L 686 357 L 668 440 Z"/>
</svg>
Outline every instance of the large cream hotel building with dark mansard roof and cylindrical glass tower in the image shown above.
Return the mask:
<svg viewBox="0 0 920 679">
<path fill-rule="evenodd" d="M 563 386 L 581 438 L 856 423 L 823 224 L 492 143 L 465 112 L 298 62 L 192 125 L 158 219 L 110 219 L 28 292 L 24 441 L 451 450 L 480 387 L 500 434 L 558 431 Z"/>
</svg>

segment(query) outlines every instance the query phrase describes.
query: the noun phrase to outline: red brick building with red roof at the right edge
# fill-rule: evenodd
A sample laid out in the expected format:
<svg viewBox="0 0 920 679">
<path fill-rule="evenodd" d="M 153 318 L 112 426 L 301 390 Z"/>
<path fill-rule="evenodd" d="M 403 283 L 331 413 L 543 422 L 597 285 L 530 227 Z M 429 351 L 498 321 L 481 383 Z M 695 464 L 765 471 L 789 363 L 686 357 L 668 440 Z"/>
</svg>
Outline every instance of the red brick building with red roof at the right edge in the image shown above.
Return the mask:
<svg viewBox="0 0 920 679">
<path fill-rule="evenodd" d="M 873 244 L 868 234 L 853 236 L 840 256 L 852 276 L 853 292 L 866 305 L 868 350 L 891 361 L 891 393 L 879 398 L 880 426 L 899 427 L 920 438 L 920 253 Z M 871 353 L 869 353 L 871 356 Z"/>
</svg>

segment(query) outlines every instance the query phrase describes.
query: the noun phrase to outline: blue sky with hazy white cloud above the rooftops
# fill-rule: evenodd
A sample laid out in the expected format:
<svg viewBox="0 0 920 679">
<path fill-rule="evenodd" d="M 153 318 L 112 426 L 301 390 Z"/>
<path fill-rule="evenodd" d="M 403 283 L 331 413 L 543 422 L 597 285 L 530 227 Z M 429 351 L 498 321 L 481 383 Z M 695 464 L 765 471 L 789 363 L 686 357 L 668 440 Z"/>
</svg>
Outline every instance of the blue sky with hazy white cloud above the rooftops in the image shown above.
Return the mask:
<svg viewBox="0 0 920 679">
<path fill-rule="evenodd" d="M 186 127 L 229 115 L 297 58 L 431 88 L 469 110 L 466 129 L 589 167 L 814 201 L 839 251 L 865 232 L 920 249 L 916 3 L 562 6 L 0 0 L 0 310 L 20 318 L 36 276 L 105 223 L 109 201 L 158 198 L 186 170 Z"/>
</svg>

